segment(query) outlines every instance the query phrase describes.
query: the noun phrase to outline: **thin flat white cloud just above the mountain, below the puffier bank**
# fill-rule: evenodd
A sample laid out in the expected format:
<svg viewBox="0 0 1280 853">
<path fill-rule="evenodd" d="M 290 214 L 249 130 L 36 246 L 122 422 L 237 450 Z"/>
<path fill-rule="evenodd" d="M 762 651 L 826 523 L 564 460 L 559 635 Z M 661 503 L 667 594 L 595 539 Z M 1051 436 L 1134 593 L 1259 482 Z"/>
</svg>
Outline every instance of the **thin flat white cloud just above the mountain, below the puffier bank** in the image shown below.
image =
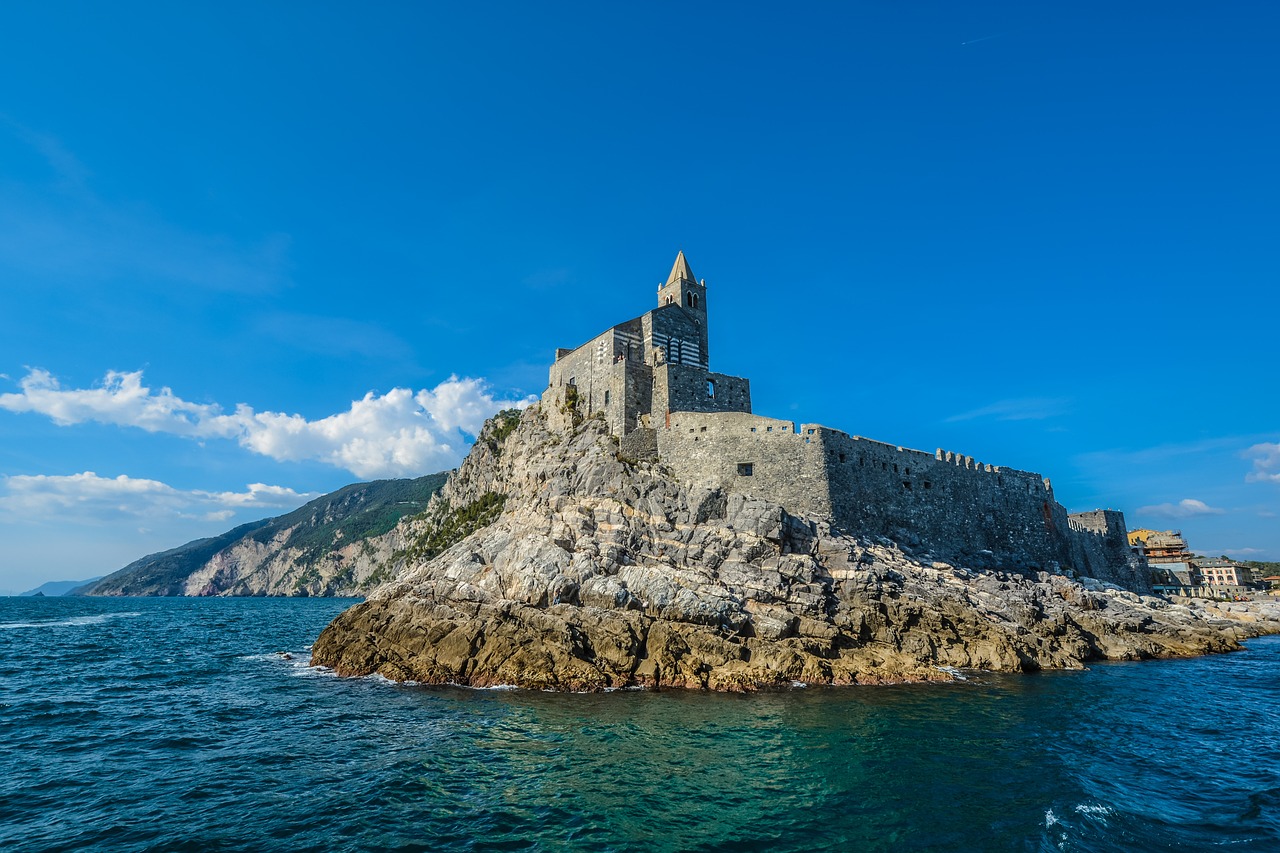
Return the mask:
<svg viewBox="0 0 1280 853">
<path fill-rule="evenodd" d="M 292 510 L 317 497 L 283 485 L 252 483 L 243 492 L 177 489 L 160 480 L 99 476 L 93 471 L 22 474 L 0 479 L 0 520 L 74 517 L 79 521 L 200 519 L 225 521 L 241 510 Z"/>
</svg>

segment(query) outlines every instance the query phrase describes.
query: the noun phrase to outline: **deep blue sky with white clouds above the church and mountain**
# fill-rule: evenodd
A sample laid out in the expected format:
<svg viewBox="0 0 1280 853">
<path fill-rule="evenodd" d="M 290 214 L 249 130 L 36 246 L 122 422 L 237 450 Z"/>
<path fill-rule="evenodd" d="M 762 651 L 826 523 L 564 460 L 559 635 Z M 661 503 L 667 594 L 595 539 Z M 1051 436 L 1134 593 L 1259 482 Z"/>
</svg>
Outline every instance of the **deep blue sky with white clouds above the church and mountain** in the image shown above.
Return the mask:
<svg viewBox="0 0 1280 853">
<path fill-rule="evenodd" d="M 684 250 L 758 414 L 1280 560 L 1272 3 L 0 6 L 0 590 L 458 465 Z"/>
</svg>

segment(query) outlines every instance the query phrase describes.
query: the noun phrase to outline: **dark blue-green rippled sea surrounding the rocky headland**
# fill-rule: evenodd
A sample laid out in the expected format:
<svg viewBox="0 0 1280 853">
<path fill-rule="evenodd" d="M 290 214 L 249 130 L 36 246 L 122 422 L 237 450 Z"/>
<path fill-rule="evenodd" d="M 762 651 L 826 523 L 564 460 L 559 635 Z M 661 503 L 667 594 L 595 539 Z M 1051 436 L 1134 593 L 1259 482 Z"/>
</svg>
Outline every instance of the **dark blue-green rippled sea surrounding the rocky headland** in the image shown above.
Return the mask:
<svg viewBox="0 0 1280 853">
<path fill-rule="evenodd" d="M 352 603 L 0 598 L 0 849 L 1280 850 L 1280 638 L 557 694 L 311 667 Z"/>
</svg>

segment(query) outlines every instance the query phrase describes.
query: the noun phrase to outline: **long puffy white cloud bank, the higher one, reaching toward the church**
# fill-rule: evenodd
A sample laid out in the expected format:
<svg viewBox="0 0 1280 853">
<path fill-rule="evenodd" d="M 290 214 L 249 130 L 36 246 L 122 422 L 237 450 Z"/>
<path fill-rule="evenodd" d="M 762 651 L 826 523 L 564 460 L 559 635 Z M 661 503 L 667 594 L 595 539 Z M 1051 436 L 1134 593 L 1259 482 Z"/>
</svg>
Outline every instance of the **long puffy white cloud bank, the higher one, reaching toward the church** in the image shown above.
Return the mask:
<svg viewBox="0 0 1280 853">
<path fill-rule="evenodd" d="M 435 388 L 370 392 L 319 420 L 241 403 L 230 414 L 212 403 L 182 400 L 142 382 L 142 371 L 109 371 L 93 388 L 63 388 L 47 370 L 32 369 L 0 409 L 36 412 L 68 426 L 86 421 L 136 426 L 196 439 L 224 438 L 280 461 L 315 460 L 356 476 L 410 476 L 461 461 L 468 435 L 500 409 L 532 398 L 498 400 L 481 379 L 449 377 Z"/>
</svg>

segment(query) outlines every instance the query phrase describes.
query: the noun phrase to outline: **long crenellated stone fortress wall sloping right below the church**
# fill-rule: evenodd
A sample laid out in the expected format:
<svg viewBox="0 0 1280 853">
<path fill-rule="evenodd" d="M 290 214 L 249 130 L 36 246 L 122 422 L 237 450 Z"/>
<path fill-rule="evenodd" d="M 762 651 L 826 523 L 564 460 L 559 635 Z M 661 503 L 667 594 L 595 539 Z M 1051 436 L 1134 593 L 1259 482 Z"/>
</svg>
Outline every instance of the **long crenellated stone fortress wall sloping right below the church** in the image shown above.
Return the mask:
<svg viewBox="0 0 1280 853">
<path fill-rule="evenodd" d="M 745 412 L 673 411 L 669 425 L 655 426 L 660 461 L 684 480 L 973 566 L 1069 567 L 1143 588 L 1140 574 L 1126 571 L 1123 515 L 1069 516 L 1039 474 Z"/>
</svg>

